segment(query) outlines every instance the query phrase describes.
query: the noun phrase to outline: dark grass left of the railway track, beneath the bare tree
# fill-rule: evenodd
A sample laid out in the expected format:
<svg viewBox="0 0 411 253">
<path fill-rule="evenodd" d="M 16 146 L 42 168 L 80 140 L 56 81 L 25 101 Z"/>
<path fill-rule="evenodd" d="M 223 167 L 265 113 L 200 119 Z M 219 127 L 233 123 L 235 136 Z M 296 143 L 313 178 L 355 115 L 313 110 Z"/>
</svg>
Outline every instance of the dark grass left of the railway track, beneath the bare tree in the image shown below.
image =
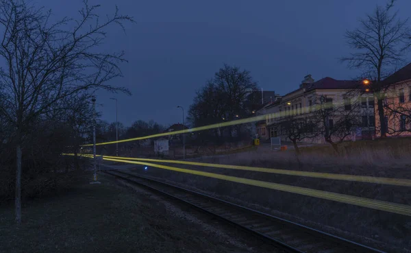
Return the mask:
<svg viewBox="0 0 411 253">
<path fill-rule="evenodd" d="M 102 176 L 67 182 L 66 189 L 25 202 L 23 224 L 12 206 L 0 208 L 0 252 L 245 252 L 162 204 Z"/>
</svg>

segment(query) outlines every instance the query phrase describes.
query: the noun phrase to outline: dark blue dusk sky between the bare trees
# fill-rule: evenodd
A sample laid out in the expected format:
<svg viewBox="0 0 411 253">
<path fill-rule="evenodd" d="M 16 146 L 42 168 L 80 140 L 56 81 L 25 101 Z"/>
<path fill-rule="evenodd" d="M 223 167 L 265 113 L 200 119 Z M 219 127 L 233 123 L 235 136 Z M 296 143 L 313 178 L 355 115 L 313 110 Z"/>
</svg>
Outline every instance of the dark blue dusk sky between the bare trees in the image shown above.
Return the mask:
<svg viewBox="0 0 411 253">
<path fill-rule="evenodd" d="M 284 94 L 297 88 L 304 75 L 351 79 L 356 72 L 338 58 L 346 56 L 347 29 L 385 0 L 90 0 L 101 11 L 134 16 L 126 34 L 112 27 L 101 51 L 124 50 L 129 63 L 123 78 L 132 96 L 98 93 L 103 119 L 115 121 L 114 101 L 119 99 L 119 121 L 125 125 L 153 119 L 168 125 L 182 122 L 195 92 L 224 63 L 251 71 L 264 91 Z M 79 0 L 38 1 L 55 16 L 73 16 Z M 395 10 L 407 18 L 411 1 L 398 0 Z M 408 12 L 408 15 L 407 15 Z"/>
</svg>

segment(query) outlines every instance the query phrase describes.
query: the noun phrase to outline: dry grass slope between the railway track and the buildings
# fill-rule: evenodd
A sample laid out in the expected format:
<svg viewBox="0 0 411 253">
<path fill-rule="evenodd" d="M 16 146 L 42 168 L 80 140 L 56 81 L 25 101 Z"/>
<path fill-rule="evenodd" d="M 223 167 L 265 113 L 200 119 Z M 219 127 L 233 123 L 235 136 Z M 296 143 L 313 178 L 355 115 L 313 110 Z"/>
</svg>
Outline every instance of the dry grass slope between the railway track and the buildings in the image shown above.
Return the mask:
<svg viewBox="0 0 411 253">
<path fill-rule="evenodd" d="M 243 152 L 226 156 L 207 156 L 194 160 L 278 169 L 411 178 L 410 138 L 343 143 L 341 148 L 343 155 L 334 154 L 327 146 L 302 148 L 299 162 L 292 151 Z M 401 186 L 303 178 L 254 171 L 175 166 L 411 204 L 411 191 Z M 405 236 L 411 229 L 411 222 L 409 217 L 403 215 L 162 169 L 151 169 L 147 175 L 177 182 L 239 204 L 246 204 L 274 215 L 304 222 L 321 230 L 385 248 L 390 252 L 408 252 L 406 249 L 411 248 L 411 242 Z"/>
</svg>

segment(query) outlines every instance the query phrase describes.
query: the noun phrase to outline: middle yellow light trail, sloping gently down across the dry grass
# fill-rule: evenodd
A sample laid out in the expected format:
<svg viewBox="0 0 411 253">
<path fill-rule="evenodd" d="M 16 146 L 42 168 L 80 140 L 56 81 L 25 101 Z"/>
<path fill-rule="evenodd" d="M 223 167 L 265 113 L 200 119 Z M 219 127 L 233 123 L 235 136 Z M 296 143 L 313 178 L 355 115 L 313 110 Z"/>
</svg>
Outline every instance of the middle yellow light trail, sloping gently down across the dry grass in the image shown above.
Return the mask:
<svg viewBox="0 0 411 253">
<path fill-rule="evenodd" d="M 87 155 L 89 156 L 89 155 Z M 92 156 L 92 155 L 90 155 Z M 336 174 L 336 173 L 322 173 L 322 172 L 310 172 L 310 171 L 292 171 L 286 169 L 270 169 L 263 167 L 249 167 L 249 166 L 239 166 L 239 165 L 221 165 L 214 163 L 205 162 L 188 162 L 182 160 L 158 160 L 158 159 L 147 159 L 147 158 L 129 158 L 129 157 L 118 157 L 118 156 L 103 156 L 103 158 L 114 158 L 121 160 L 137 160 L 137 161 L 147 161 L 147 162 L 163 162 L 163 163 L 175 163 L 181 165 L 195 165 L 202 167 L 214 167 L 221 169 L 239 169 L 245 171 L 258 171 L 265 173 L 275 173 L 289 176 L 303 176 L 309 178 L 324 178 L 332 180 L 345 180 L 345 181 L 355 181 L 355 182 L 367 182 L 373 184 L 390 184 L 397 186 L 411 186 L 411 180 L 401 179 L 401 178 L 378 178 L 373 176 L 356 176 L 348 174 Z"/>
</svg>

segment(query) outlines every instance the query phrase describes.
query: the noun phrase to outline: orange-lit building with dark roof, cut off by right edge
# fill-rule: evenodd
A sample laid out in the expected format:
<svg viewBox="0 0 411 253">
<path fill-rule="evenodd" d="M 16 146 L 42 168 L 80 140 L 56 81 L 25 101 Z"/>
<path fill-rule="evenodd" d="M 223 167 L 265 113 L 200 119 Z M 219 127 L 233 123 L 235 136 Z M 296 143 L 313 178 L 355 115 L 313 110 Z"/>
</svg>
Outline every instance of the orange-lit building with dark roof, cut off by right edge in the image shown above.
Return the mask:
<svg viewBox="0 0 411 253">
<path fill-rule="evenodd" d="M 387 77 L 384 91 L 384 121 L 388 125 L 386 136 L 411 135 L 411 63 Z M 377 99 L 375 99 L 377 102 Z M 379 131 L 379 114 L 375 106 L 377 136 Z"/>
</svg>

